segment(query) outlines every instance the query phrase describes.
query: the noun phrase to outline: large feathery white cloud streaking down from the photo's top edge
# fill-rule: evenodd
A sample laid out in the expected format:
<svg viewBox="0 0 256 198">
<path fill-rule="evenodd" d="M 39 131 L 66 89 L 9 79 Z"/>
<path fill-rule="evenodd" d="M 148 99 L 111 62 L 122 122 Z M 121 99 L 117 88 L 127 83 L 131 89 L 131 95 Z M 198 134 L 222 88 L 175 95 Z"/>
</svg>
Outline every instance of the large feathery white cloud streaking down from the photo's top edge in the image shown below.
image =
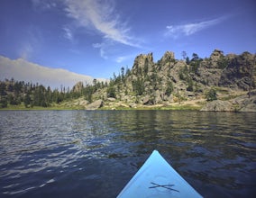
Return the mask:
<svg viewBox="0 0 256 198">
<path fill-rule="evenodd" d="M 93 28 L 103 34 L 107 40 L 114 40 L 124 45 L 139 47 L 128 35 L 129 28 L 120 22 L 111 0 L 66 0 L 66 12 L 79 25 Z"/>
</svg>

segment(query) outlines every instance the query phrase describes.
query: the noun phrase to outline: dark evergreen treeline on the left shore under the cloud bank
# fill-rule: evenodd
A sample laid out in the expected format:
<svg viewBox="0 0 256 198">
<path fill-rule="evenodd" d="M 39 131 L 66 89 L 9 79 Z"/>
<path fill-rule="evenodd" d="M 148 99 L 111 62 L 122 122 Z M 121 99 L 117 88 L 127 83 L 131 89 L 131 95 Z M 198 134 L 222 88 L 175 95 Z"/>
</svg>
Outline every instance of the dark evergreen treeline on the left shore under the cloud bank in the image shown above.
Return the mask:
<svg viewBox="0 0 256 198">
<path fill-rule="evenodd" d="M 92 94 L 105 85 L 107 84 L 95 79 L 93 85 L 82 85 L 78 89 L 75 86 L 71 90 L 69 87 L 60 86 L 60 90 L 51 90 L 50 86 L 46 88 L 38 83 L 15 81 L 14 78 L 5 79 L 0 81 L 0 108 L 6 108 L 8 105 L 24 105 L 26 108 L 50 107 L 53 103 L 61 103 L 80 96 L 91 102 Z"/>
</svg>

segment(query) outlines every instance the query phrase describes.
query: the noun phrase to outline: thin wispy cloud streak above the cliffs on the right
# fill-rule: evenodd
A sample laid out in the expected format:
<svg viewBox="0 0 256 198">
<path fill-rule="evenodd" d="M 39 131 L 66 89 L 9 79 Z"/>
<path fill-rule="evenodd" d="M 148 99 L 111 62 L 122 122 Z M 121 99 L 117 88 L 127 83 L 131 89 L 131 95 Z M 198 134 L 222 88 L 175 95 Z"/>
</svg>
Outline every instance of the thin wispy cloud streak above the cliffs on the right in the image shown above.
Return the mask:
<svg viewBox="0 0 256 198">
<path fill-rule="evenodd" d="M 180 36 L 189 36 L 197 31 L 202 31 L 208 27 L 211 27 L 215 24 L 221 23 L 224 21 L 224 18 L 216 18 L 209 21 L 199 22 L 199 23 L 187 23 L 181 25 L 168 25 L 166 26 L 165 36 L 170 36 L 174 39 L 177 39 Z"/>
</svg>

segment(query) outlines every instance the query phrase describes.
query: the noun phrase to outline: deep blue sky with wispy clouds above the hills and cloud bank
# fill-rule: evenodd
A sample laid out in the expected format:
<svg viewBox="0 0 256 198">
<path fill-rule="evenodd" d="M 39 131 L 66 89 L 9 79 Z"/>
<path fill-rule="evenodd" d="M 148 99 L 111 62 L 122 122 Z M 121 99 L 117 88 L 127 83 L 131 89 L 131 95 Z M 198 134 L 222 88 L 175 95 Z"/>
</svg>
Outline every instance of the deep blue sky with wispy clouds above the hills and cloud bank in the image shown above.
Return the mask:
<svg viewBox="0 0 256 198">
<path fill-rule="evenodd" d="M 256 52 L 255 0 L 1 0 L 0 55 L 109 78 L 134 58 Z"/>
</svg>

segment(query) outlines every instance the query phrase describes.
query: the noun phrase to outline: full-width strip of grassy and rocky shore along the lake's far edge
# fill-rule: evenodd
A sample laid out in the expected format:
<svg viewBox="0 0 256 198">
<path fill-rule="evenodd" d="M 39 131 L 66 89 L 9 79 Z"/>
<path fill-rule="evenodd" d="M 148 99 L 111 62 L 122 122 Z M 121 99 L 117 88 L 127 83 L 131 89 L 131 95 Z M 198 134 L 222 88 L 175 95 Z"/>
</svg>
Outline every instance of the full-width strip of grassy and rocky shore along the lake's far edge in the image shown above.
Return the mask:
<svg viewBox="0 0 256 198">
<path fill-rule="evenodd" d="M 220 95 L 219 95 L 220 96 Z M 118 111 L 118 110 L 170 110 L 170 111 L 206 111 L 206 112 L 256 112 L 256 94 L 248 98 L 246 94 L 238 97 L 221 95 L 221 99 L 206 101 L 204 98 L 181 101 L 180 103 L 159 103 L 146 105 L 142 103 L 123 103 L 122 101 L 99 101 L 93 107 L 84 104 L 84 101 L 67 101 L 65 103 L 53 103 L 49 107 L 33 106 L 25 107 L 24 104 L 8 105 L 0 108 L 0 111 Z"/>
</svg>

